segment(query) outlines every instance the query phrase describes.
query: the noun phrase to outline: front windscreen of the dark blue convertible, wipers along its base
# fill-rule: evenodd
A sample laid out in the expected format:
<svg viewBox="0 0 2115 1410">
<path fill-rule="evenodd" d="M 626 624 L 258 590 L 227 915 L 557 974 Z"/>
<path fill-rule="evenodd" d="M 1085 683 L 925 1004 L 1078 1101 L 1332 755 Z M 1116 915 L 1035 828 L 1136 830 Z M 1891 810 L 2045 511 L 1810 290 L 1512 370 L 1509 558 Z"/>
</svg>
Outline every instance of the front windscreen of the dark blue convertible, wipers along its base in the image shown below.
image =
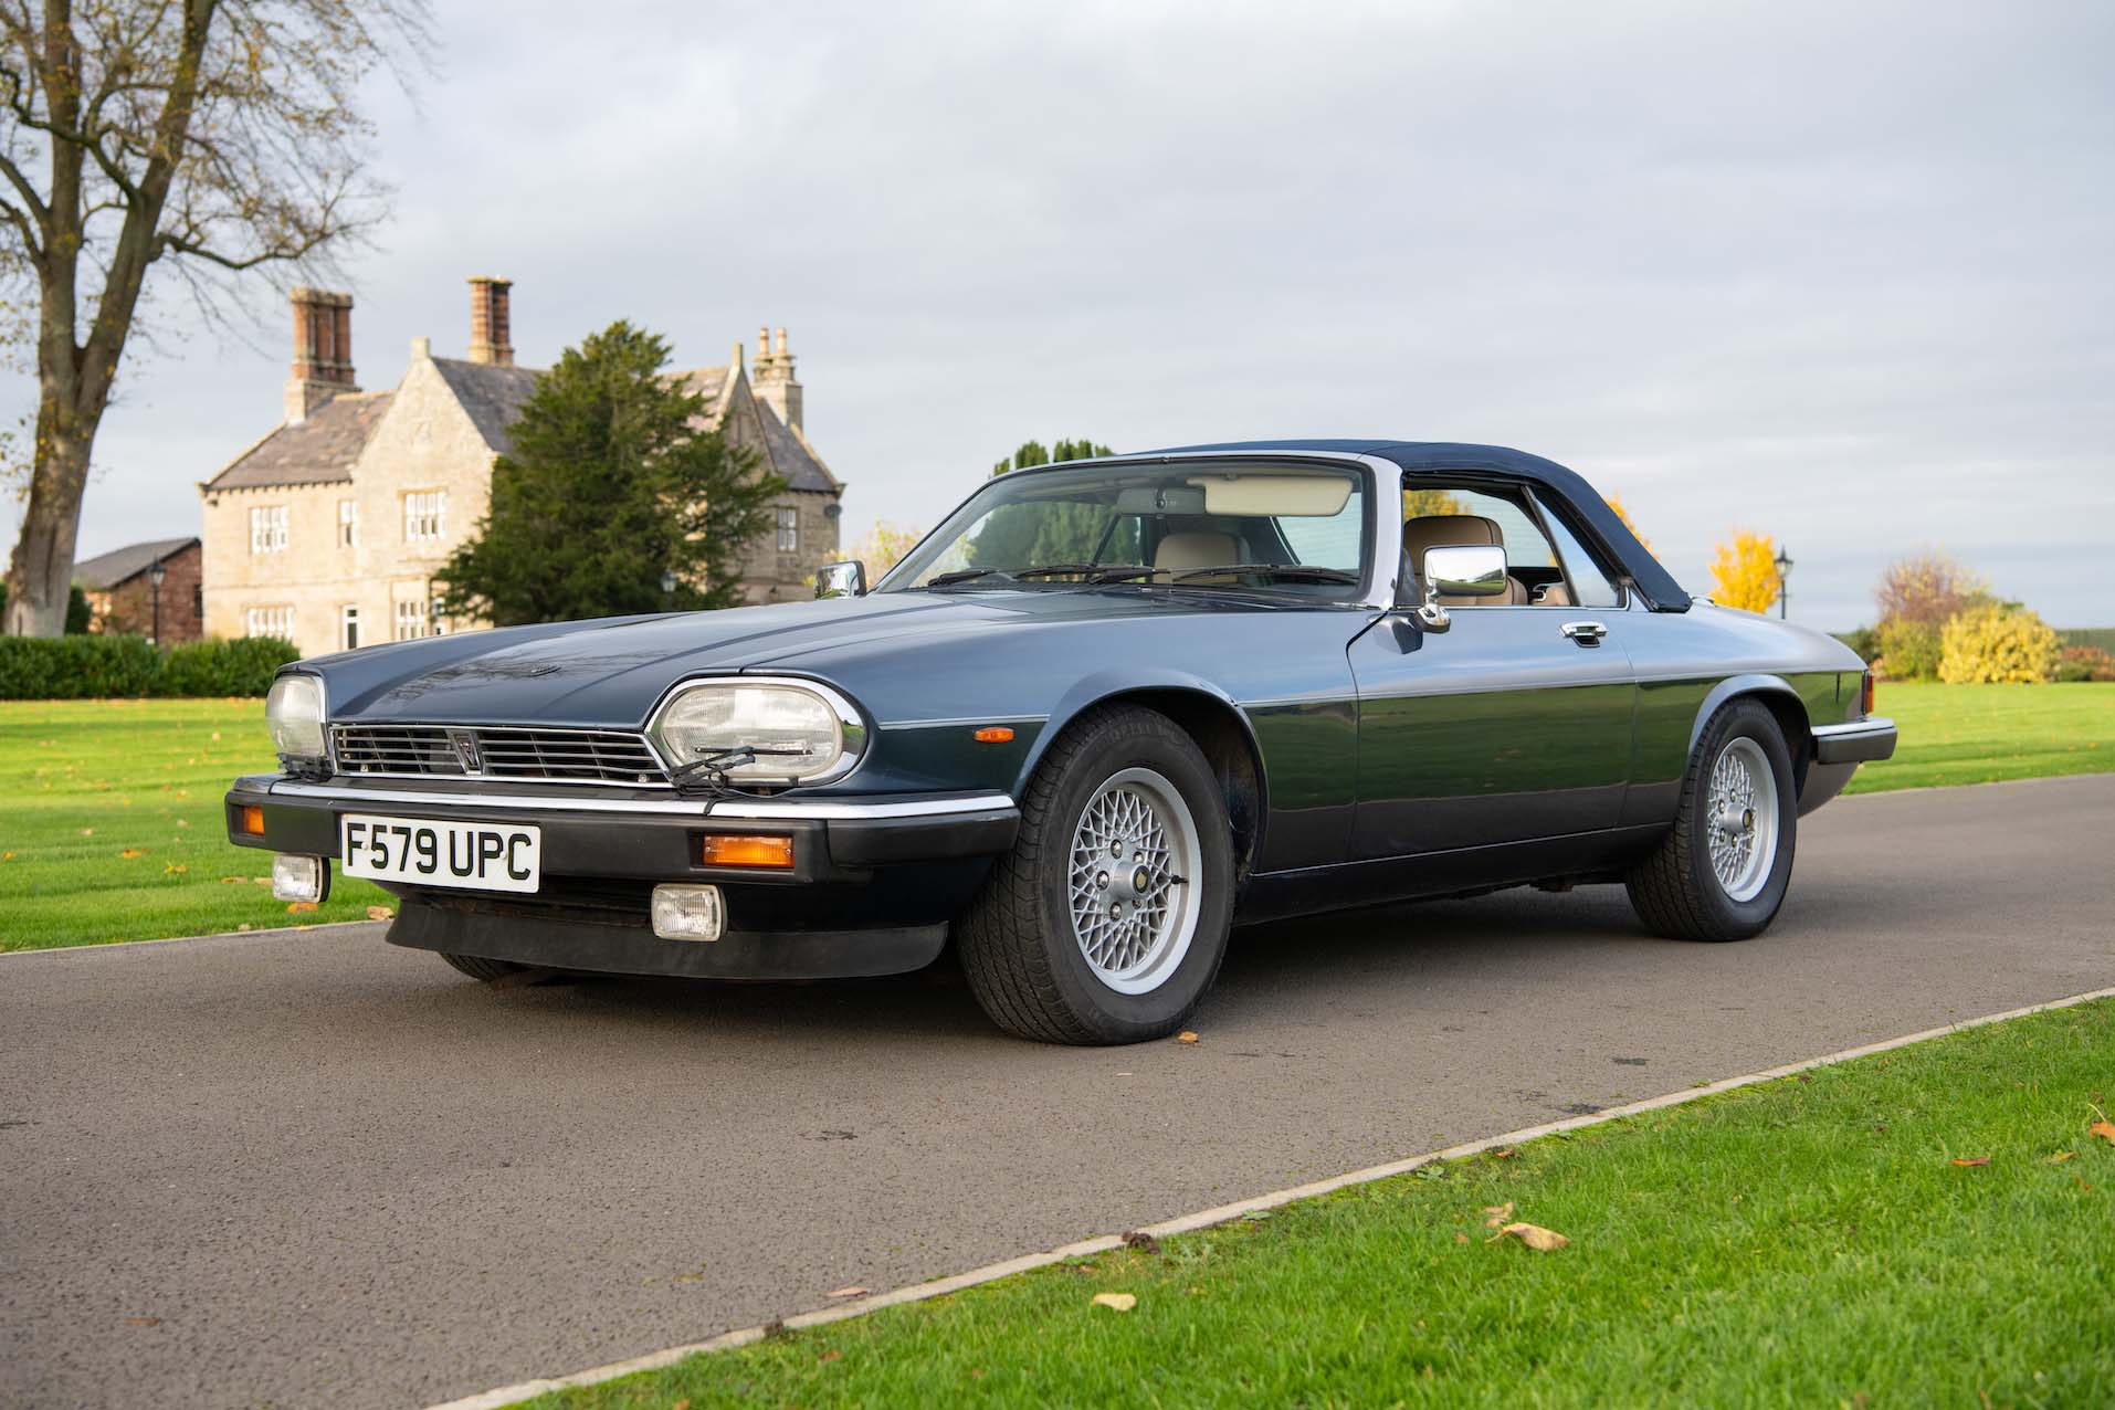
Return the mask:
<svg viewBox="0 0 2115 1410">
<path fill-rule="evenodd" d="M 1332 465 L 1085 465 L 998 476 L 878 592 L 1129 581 L 1358 594 L 1366 478 Z"/>
</svg>

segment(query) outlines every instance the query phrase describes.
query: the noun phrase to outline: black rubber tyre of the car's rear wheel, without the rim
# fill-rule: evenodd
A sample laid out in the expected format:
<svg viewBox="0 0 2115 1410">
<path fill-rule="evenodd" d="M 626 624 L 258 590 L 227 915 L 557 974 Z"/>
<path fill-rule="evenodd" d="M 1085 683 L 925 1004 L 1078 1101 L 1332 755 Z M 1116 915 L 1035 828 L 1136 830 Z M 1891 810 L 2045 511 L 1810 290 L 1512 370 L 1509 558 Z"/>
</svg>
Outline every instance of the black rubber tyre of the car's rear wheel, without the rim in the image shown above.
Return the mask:
<svg viewBox="0 0 2115 1410">
<path fill-rule="evenodd" d="M 1739 740 L 1760 748 L 1777 795 L 1777 850 L 1753 896 L 1734 898 L 1711 865 L 1711 772 Z M 1707 723 L 1681 778 L 1675 827 L 1654 852 L 1631 869 L 1624 886 L 1637 917 L 1673 941 L 1745 941 L 1768 930 L 1791 886 L 1798 839 L 1798 795 L 1791 786 L 1791 750 L 1777 717 L 1758 700 L 1730 700 Z"/>
</svg>

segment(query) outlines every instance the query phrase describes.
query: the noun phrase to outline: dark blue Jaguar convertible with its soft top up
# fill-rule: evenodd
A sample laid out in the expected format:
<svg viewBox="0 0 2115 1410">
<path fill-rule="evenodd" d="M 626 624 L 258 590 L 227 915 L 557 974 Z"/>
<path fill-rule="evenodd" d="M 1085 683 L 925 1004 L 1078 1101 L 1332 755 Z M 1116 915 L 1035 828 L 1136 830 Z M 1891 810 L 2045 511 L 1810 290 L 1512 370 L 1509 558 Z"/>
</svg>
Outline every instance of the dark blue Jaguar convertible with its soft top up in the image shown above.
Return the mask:
<svg viewBox="0 0 2115 1410">
<path fill-rule="evenodd" d="M 1758 934 L 1895 727 L 1827 636 L 1692 600 L 1516 450 L 1263 442 L 983 484 L 814 602 L 286 668 L 228 791 L 277 894 L 522 968 L 812 979 L 956 949 L 1003 1027 L 1174 1032 L 1237 922 L 1620 882 Z"/>
</svg>

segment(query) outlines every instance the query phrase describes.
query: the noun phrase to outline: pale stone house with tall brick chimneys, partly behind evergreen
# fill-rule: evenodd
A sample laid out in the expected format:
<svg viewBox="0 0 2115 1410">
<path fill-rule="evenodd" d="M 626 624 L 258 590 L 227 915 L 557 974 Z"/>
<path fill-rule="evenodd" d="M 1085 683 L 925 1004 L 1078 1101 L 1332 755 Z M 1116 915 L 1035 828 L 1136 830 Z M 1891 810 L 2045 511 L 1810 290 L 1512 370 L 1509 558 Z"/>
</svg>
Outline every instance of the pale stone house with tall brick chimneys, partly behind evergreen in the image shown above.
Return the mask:
<svg viewBox="0 0 2115 1410">
<path fill-rule="evenodd" d="M 539 372 L 514 366 L 512 285 L 470 281 L 470 353 L 412 338 L 389 391 L 353 378 L 349 294 L 294 290 L 294 366 L 279 425 L 199 484 L 209 636 L 288 636 L 302 655 L 480 626 L 440 615 L 436 573 L 484 516 L 493 459 Z M 719 368 L 677 374 L 706 423 L 753 448 L 787 488 L 744 554 L 742 592 L 810 592 L 838 556 L 844 484 L 802 431 L 802 385 L 780 328 Z"/>
</svg>

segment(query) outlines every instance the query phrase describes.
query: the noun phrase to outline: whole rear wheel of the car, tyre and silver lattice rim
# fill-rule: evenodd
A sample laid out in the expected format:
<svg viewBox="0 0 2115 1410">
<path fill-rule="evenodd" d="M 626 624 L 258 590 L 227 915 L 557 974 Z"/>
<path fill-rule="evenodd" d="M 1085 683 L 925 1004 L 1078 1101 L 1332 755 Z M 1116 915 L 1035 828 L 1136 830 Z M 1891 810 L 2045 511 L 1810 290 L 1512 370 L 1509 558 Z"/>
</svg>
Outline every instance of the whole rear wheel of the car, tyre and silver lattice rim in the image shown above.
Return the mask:
<svg viewBox="0 0 2115 1410">
<path fill-rule="evenodd" d="M 1745 941 L 1785 903 L 1798 808 L 1777 717 L 1734 700 L 1705 725 L 1675 827 L 1626 877 L 1631 905 L 1677 941 Z"/>
</svg>

